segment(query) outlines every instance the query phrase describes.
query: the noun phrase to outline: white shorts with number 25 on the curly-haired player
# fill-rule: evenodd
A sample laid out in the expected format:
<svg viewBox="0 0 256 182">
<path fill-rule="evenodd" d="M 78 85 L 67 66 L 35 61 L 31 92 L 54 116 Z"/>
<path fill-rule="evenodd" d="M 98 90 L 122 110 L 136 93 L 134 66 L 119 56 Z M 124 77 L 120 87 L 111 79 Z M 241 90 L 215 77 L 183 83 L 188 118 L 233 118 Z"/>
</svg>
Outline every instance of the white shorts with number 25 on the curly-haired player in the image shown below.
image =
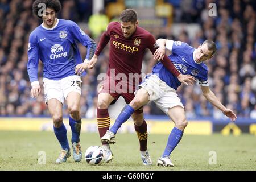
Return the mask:
<svg viewBox="0 0 256 182">
<path fill-rule="evenodd" d="M 67 99 L 70 92 L 77 92 L 81 95 L 82 79 L 81 76 L 72 75 L 61 80 L 49 80 L 43 78 L 44 101 L 56 98 L 62 104 Z"/>
</svg>

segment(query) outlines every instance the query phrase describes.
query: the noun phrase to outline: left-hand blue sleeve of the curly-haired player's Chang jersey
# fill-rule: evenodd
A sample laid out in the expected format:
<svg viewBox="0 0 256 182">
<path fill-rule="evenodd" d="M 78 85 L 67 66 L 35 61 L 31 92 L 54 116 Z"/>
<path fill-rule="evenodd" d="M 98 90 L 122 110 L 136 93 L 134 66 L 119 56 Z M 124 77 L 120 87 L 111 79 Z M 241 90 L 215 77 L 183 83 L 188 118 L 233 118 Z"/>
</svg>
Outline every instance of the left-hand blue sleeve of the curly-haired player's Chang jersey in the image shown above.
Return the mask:
<svg viewBox="0 0 256 182">
<path fill-rule="evenodd" d="M 30 34 L 27 54 L 27 72 L 30 77 L 30 82 L 38 81 L 39 49 L 36 43 L 36 37 L 33 34 Z"/>
</svg>

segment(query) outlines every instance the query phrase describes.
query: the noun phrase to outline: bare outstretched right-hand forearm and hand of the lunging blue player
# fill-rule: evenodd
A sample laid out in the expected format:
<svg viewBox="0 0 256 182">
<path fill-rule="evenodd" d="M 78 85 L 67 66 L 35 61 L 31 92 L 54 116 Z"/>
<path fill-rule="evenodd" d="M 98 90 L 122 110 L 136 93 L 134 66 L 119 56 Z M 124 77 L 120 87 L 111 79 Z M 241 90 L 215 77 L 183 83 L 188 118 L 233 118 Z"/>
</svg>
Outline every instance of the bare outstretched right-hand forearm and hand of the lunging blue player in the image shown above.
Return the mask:
<svg viewBox="0 0 256 182">
<path fill-rule="evenodd" d="M 237 119 L 237 115 L 234 113 L 234 111 L 227 109 L 224 105 L 222 105 L 218 98 L 215 96 L 215 94 L 210 90 L 209 86 L 201 86 L 201 90 L 204 94 L 204 97 L 212 105 L 220 109 L 223 114 L 230 118 L 231 121 L 235 121 Z"/>
</svg>

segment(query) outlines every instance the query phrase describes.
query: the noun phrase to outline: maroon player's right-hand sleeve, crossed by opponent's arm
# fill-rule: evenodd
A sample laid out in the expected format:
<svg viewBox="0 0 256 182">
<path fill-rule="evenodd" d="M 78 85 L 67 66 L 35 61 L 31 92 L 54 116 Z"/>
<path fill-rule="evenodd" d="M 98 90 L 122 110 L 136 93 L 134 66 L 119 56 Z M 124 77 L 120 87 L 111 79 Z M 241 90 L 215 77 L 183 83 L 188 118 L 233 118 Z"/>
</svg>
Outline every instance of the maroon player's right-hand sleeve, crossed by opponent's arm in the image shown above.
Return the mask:
<svg viewBox="0 0 256 182">
<path fill-rule="evenodd" d="M 154 38 L 154 36 L 149 34 L 147 40 L 148 40 L 147 48 L 150 49 L 150 51 L 154 55 L 156 49 L 158 48 L 156 46 L 155 38 Z M 168 57 L 166 55 L 164 55 L 164 59 L 160 60 L 160 61 L 164 65 L 164 67 L 166 67 L 168 69 L 168 71 L 171 72 L 175 77 L 180 75 L 180 72 L 177 71 L 177 69 L 174 67 L 174 64 L 172 64 L 172 61 L 170 61 L 170 59 L 168 59 Z"/>
</svg>

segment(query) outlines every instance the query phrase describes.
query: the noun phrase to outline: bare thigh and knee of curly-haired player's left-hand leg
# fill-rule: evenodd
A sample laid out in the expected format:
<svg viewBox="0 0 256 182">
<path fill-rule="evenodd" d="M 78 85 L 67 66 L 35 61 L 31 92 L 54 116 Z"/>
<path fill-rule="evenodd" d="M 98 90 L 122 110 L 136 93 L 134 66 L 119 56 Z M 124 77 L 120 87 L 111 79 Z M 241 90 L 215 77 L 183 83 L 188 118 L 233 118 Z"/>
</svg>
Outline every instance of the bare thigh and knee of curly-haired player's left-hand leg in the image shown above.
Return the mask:
<svg viewBox="0 0 256 182">
<path fill-rule="evenodd" d="M 52 98 L 47 101 L 49 113 L 51 114 L 53 121 L 60 120 L 63 117 L 62 106 L 63 104 L 56 98 Z"/>
</svg>

